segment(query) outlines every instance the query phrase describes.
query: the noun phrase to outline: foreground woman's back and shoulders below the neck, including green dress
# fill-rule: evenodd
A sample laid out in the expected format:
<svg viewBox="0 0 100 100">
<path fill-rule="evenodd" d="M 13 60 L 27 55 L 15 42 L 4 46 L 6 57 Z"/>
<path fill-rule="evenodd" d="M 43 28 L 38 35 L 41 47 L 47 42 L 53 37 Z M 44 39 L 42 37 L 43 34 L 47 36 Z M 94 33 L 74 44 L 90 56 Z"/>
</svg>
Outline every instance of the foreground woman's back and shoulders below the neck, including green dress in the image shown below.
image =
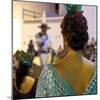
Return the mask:
<svg viewBox="0 0 100 100">
<path fill-rule="evenodd" d="M 58 64 L 49 64 L 44 67 L 37 86 L 37 97 L 84 94 L 90 82 L 93 80 L 95 80 L 95 83 L 92 82 L 95 87 L 93 91 L 96 93 L 94 65 L 83 57 L 80 60 L 79 58 L 77 60 L 77 57 L 73 57 L 75 56 L 70 55 L 70 59 L 65 57 Z M 62 90 L 63 88 L 65 88 L 64 91 Z M 43 92 L 41 90 L 46 94 L 40 94 L 40 92 Z"/>
</svg>

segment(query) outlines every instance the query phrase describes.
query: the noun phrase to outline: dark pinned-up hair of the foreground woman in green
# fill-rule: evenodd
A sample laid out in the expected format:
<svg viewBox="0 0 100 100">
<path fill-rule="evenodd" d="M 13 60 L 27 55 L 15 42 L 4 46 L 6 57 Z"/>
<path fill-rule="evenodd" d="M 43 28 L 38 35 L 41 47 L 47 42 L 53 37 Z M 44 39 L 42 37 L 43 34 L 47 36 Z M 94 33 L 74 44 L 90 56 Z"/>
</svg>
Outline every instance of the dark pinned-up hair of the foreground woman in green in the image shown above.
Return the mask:
<svg viewBox="0 0 100 100">
<path fill-rule="evenodd" d="M 81 50 L 88 41 L 87 20 L 80 12 L 66 14 L 62 24 L 62 34 L 69 46 L 74 50 Z"/>
</svg>

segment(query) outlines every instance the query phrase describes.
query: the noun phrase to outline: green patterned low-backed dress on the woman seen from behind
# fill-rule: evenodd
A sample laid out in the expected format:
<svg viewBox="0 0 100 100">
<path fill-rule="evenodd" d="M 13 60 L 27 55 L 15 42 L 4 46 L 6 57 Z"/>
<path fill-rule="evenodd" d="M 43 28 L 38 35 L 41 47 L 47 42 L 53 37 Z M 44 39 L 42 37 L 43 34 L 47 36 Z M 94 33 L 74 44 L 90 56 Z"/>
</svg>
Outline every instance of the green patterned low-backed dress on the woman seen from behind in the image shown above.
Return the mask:
<svg viewBox="0 0 100 100">
<path fill-rule="evenodd" d="M 97 81 L 96 74 L 86 88 L 84 94 L 96 94 L 97 93 Z M 53 97 L 53 96 L 74 96 L 75 91 L 70 85 L 58 74 L 53 65 L 46 65 L 39 77 L 36 97 Z"/>
</svg>

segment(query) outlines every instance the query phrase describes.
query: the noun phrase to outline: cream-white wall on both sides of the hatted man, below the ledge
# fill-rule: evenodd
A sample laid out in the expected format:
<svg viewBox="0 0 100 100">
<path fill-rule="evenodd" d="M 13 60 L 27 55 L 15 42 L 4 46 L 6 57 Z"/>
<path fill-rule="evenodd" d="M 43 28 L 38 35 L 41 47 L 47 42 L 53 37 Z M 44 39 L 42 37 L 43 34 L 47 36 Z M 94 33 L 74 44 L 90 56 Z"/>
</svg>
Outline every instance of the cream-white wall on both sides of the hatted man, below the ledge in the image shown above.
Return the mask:
<svg viewBox="0 0 100 100">
<path fill-rule="evenodd" d="M 27 49 L 27 45 L 30 39 L 33 39 L 35 42 L 35 35 L 40 32 L 40 28 L 38 26 L 41 22 L 35 22 L 35 23 L 25 23 L 23 25 L 23 49 Z M 61 19 L 47 20 L 48 26 L 51 28 L 47 31 L 48 36 L 50 37 L 52 47 L 57 50 L 59 45 L 63 45 L 62 35 L 61 35 L 61 29 L 60 29 L 60 23 Z M 36 47 L 36 44 L 35 44 Z M 37 47 L 36 47 L 37 48 Z"/>
</svg>

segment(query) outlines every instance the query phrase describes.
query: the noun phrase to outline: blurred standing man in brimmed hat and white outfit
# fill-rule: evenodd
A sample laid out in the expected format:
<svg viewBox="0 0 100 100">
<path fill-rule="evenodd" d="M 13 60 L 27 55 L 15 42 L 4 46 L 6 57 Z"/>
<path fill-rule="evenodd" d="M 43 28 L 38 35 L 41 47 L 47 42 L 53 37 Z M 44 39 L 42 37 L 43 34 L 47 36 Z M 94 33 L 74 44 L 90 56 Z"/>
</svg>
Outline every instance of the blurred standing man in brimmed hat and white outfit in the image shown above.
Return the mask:
<svg viewBox="0 0 100 100">
<path fill-rule="evenodd" d="M 50 53 L 51 48 L 51 41 L 47 34 L 47 29 L 50 29 L 50 27 L 43 23 L 39 26 L 39 28 L 41 28 L 41 32 L 36 34 L 36 41 L 38 45 L 41 66 L 43 67 L 47 64 L 48 54 Z"/>
</svg>

